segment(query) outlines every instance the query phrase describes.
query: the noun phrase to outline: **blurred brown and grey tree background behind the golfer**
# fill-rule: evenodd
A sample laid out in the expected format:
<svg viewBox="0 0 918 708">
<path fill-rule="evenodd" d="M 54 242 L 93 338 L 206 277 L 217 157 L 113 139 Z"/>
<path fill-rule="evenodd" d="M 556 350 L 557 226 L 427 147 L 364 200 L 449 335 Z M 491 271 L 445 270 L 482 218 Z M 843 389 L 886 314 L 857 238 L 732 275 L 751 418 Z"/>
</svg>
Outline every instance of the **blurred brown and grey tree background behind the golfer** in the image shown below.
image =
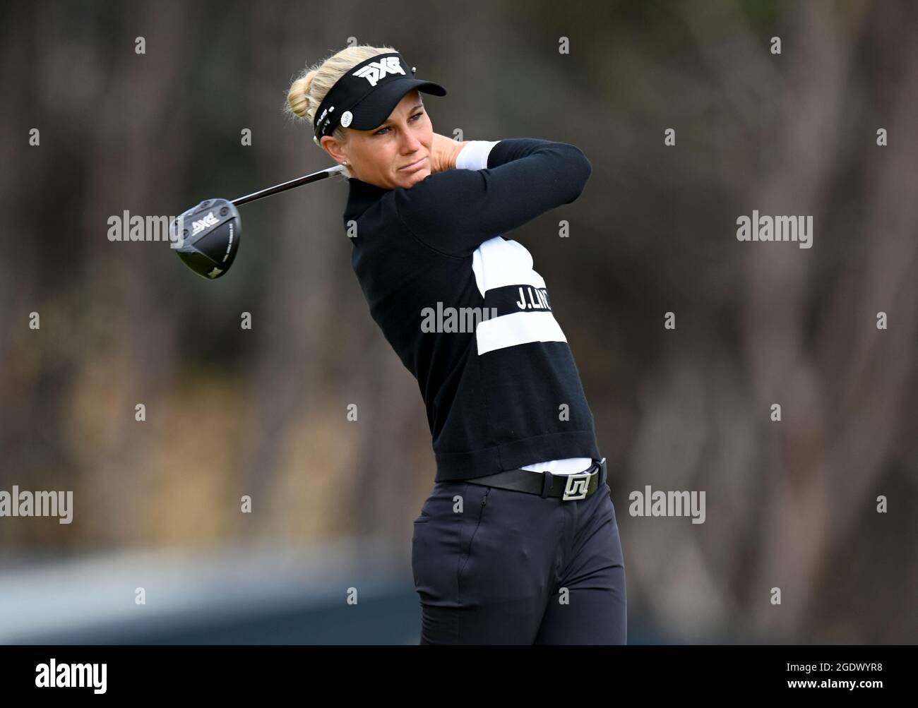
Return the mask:
<svg viewBox="0 0 918 708">
<path fill-rule="evenodd" d="M 577 358 L 630 616 L 673 641 L 918 636 L 914 3 L 34 2 L 2 17 L 0 489 L 75 505 L 69 526 L 0 520 L 3 558 L 366 533 L 408 552 L 430 431 L 351 271 L 340 180 L 244 206 L 216 282 L 167 243 L 106 236 L 125 210 L 173 216 L 330 166 L 282 107 L 297 72 L 354 38 L 447 88 L 425 100 L 436 132 L 555 139 L 592 162 L 574 205 L 507 238 L 531 250 Z M 737 241 L 754 209 L 812 215 L 812 249 Z M 648 484 L 705 490 L 706 522 L 632 517 Z"/>
</svg>

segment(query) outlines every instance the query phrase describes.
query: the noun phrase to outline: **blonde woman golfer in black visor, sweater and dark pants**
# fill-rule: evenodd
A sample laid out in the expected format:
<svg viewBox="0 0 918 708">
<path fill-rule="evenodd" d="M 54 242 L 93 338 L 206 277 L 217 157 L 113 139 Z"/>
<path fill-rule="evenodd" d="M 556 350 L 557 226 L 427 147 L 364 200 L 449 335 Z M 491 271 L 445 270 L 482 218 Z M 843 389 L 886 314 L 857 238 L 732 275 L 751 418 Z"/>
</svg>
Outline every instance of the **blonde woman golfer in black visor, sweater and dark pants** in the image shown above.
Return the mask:
<svg viewBox="0 0 918 708">
<path fill-rule="evenodd" d="M 391 47 L 341 50 L 288 108 L 344 166 L 370 315 L 415 376 L 436 475 L 414 522 L 421 644 L 623 644 L 615 510 L 577 366 L 532 256 L 505 235 L 577 199 L 583 153 L 433 132 Z"/>
</svg>

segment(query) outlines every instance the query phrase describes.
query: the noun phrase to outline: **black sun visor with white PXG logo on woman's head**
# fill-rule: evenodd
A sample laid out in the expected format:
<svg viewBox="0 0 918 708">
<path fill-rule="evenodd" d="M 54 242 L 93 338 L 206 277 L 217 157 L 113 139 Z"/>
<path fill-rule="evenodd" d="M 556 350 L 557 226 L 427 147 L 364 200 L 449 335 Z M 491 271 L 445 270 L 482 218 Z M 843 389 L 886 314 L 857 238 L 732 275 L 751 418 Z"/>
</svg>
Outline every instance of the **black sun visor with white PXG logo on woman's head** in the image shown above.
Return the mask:
<svg viewBox="0 0 918 708">
<path fill-rule="evenodd" d="M 370 130 L 386 121 L 402 96 L 412 89 L 424 94 L 446 95 L 439 83 L 414 78 L 414 67 L 397 51 L 377 54 L 361 61 L 331 87 L 316 111 L 313 125 L 318 144 L 341 127 Z"/>
</svg>

